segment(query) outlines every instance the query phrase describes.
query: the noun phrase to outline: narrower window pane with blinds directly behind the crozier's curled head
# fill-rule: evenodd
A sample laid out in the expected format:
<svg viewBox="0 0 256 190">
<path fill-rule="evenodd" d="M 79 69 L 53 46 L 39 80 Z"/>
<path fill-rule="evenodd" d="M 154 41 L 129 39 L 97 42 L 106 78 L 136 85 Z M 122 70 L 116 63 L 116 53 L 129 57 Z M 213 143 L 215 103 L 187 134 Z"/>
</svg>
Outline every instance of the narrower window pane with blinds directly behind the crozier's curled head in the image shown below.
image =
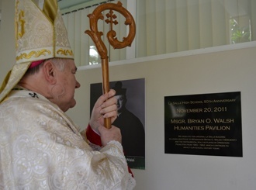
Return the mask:
<svg viewBox="0 0 256 190">
<path fill-rule="evenodd" d="M 111 1 L 116 3 L 117 1 Z M 119 1 L 123 3 L 123 7 L 126 7 L 126 0 Z M 102 2 L 105 3 L 105 2 Z M 91 2 L 92 4 L 92 2 Z M 68 38 L 71 43 L 72 50 L 74 50 L 74 59 L 78 66 L 99 64 L 101 59 L 95 47 L 95 43 L 92 41 L 88 34 L 85 34 L 85 30 L 90 29 L 88 14 L 92 13 L 97 5 L 88 5 L 87 7 L 73 10 L 71 12 L 63 12 L 63 18 L 65 26 L 67 27 Z M 105 15 L 108 12 L 104 12 Z M 115 12 L 118 25 L 114 25 L 113 29 L 116 31 L 116 37 L 119 41 L 123 40 L 123 34 L 126 35 L 126 25 L 124 25 L 125 19 L 118 12 Z M 102 40 L 106 45 L 109 54 L 109 61 L 126 60 L 126 49 L 114 50 L 110 47 L 106 37 L 106 33 L 109 32 L 109 24 L 99 20 L 99 31 L 103 32 Z"/>
</svg>

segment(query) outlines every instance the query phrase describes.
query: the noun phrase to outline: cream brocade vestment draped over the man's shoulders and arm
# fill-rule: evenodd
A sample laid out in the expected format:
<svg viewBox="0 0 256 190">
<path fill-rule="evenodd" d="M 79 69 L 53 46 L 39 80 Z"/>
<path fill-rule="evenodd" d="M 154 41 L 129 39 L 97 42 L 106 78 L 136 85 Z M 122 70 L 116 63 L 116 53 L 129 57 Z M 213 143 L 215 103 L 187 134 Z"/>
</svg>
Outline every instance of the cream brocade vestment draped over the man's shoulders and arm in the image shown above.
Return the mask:
<svg viewBox="0 0 256 190">
<path fill-rule="evenodd" d="M 42 95 L 12 90 L 0 104 L 0 189 L 132 189 L 123 147 L 101 150 Z"/>
</svg>

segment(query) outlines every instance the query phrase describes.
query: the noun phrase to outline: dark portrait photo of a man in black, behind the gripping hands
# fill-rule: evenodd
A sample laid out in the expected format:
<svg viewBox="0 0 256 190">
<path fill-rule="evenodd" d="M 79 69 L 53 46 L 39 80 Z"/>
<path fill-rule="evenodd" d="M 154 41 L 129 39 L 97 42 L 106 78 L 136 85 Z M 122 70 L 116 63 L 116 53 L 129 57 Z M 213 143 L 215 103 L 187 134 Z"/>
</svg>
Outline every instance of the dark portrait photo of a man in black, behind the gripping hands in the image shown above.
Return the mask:
<svg viewBox="0 0 256 190">
<path fill-rule="evenodd" d="M 111 81 L 116 91 L 119 127 L 126 161 L 130 168 L 145 169 L 145 79 Z M 91 112 L 102 95 L 102 83 L 91 84 Z"/>
</svg>

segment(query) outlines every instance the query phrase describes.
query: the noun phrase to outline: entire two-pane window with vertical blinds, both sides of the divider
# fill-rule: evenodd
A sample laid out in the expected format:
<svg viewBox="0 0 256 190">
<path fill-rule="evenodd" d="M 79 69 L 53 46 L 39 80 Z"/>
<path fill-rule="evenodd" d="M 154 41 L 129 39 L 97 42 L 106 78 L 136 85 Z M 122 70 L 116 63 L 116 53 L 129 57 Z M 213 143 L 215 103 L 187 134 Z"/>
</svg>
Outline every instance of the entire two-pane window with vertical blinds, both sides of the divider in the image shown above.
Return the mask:
<svg viewBox="0 0 256 190">
<path fill-rule="evenodd" d="M 94 1 L 91 1 L 91 4 Z M 97 1 L 99 2 L 99 0 Z M 109 2 L 109 1 L 108 1 Z M 116 3 L 117 1 L 111 1 Z M 256 0 L 122 0 L 136 20 L 137 33 L 132 47 L 113 50 L 102 36 L 109 61 L 150 57 L 162 54 L 223 47 L 256 41 Z M 95 44 L 85 34 L 89 29 L 87 15 L 95 5 L 63 12 L 67 33 L 80 66 L 98 64 Z M 119 40 L 126 34 L 124 19 L 119 18 L 115 31 Z M 109 26 L 99 22 L 99 30 Z M 105 31 L 105 32 L 104 32 Z"/>
</svg>

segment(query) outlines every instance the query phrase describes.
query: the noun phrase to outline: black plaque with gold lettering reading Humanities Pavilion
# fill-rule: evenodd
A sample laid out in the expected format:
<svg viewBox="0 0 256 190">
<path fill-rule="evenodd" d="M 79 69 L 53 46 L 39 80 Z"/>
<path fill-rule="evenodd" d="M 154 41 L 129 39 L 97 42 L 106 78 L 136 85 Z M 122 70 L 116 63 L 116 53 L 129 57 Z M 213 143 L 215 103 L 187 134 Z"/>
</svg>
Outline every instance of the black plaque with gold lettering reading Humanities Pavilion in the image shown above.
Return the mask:
<svg viewBox="0 0 256 190">
<path fill-rule="evenodd" d="M 164 97 L 165 154 L 242 157 L 240 92 Z"/>
</svg>

